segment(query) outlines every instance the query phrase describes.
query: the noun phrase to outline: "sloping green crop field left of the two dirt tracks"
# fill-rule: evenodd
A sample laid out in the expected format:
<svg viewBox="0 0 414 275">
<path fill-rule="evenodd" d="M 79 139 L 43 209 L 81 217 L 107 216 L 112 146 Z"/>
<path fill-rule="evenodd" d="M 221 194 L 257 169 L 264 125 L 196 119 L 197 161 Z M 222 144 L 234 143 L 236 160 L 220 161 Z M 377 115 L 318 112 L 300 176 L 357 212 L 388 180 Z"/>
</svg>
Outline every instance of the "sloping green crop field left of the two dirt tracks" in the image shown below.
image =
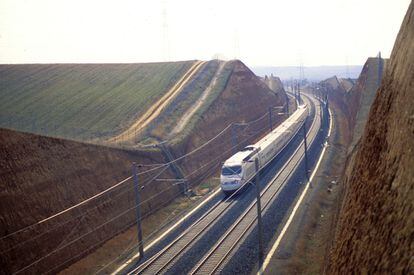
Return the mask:
<svg viewBox="0 0 414 275">
<path fill-rule="evenodd" d="M 192 64 L 0 65 L 0 127 L 76 140 L 109 137 Z"/>
</svg>

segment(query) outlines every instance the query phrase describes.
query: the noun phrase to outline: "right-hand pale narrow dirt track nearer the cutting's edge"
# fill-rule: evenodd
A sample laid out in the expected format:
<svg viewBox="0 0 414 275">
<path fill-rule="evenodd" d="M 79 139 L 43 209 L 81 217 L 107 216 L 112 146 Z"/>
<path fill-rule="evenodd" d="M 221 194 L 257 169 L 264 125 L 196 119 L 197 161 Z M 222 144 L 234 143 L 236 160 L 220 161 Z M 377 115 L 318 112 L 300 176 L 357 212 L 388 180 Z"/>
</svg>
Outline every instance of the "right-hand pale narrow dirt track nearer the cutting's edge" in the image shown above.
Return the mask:
<svg viewBox="0 0 414 275">
<path fill-rule="evenodd" d="M 223 71 L 223 68 L 224 68 L 226 63 L 227 63 L 226 61 L 221 62 L 219 68 L 217 69 L 216 73 L 214 74 L 213 79 L 211 80 L 208 87 L 204 90 L 203 94 L 194 103 L 194 105 L 190 109 L 188 109 L 187 112 L 183 115 L 183 117 L 178 121 L 177 125 L 174 127 L 174 129 L 171 131 L 171 133 L 168 135 L 169 138 L 171 138 L 174 135 L 181 132 L 184 129 L 184 127 L 188 124 L 188 122 L 190 121 L 191 117 L 195 114 L 195 112 L 197 112 L 197 110 L 200 109 L 200 107 L 206 101 L 207 97 L 213 91 L 213 88 L 216 86 L 217 80 L 218 80 L 221 72 Z"/>
</svg>

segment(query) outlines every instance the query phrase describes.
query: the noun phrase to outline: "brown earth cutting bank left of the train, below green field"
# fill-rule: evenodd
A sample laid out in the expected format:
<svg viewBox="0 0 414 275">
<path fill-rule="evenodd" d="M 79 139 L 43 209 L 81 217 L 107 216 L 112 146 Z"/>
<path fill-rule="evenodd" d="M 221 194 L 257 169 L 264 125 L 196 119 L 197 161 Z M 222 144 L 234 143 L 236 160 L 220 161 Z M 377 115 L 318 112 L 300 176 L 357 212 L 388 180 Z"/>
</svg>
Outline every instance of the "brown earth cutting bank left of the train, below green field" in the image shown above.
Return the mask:
<svg viewBox="0 0 414 275">
<path fill-rule="evenodd" d="M 202 115 L 194 130 L 170 148 L 182 156 L 216 136 L 231 122 L 266 115 L 285 96 L 271 91 L 240 61 L 224 91 Z M 275 117 L 274 123 L 282 118 Z M 198 184 L 232 154 L 231 146 L 248 144 L 268 129 L 263 116 L 248 126 L 227 128 L 208 146 L 178 161 L 190 185 Z M 236 138 L 234 138 L 236 137 Z M 0 129 L 0 247 L 1 272 L 55 273 L 135 223 L 131 180 L 81 207 L 12 234 L 89 198 L 128 177 L 131 162 L 164 163 L 157 149 L 127 151 Z M 151 167 L 140 168 L 140 171 Z M 162 171 L 162 169 L 160 169 Z M 145 183 L 160 170 L 140 176 Z M 174 178 L 170 170 L 160 178 Z M 142 189 L 144 216 L 159 210 L 182 192 L 181 185 L 151 181 Z M 24 269 L 27 267 L 27 269 Z M 23 270 L 22 270 L 23 269 Z"/>
</svg>

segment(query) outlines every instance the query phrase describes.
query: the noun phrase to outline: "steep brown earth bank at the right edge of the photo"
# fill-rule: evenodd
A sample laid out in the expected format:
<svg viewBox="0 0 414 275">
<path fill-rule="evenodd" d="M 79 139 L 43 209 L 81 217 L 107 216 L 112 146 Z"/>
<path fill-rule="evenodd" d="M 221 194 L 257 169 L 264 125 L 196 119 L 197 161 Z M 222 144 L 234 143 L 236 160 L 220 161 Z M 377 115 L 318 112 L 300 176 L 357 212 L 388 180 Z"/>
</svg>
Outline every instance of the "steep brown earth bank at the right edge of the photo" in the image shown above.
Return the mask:
<svg viewBox="0 0 414 275">
<path fill-rule="evenodd" d="M 414 272 L 414 4 L 348 174 L 328 274 Z"/>
</svg>

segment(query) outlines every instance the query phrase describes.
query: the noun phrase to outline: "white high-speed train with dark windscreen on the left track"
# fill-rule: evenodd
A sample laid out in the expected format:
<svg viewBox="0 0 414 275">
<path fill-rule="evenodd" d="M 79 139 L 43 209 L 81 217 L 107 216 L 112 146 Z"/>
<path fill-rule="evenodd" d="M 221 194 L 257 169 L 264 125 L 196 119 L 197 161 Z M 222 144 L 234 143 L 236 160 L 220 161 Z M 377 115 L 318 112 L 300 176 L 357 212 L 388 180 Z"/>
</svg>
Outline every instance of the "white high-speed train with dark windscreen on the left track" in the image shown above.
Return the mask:
<svg viewBox="0 0 414 275">
<path fill-rule="evenodd" d="M 307 105 L 298 106 L 298 109 L 276 129 L 227 159 L 220 175 L 223 192 L 233 193 L 244 183 L 251 181 L 256 172 L 255 159 L 258 160 L 259 170 L 265 167 L 299 130 L 307 115 Z"/>
</svg>

